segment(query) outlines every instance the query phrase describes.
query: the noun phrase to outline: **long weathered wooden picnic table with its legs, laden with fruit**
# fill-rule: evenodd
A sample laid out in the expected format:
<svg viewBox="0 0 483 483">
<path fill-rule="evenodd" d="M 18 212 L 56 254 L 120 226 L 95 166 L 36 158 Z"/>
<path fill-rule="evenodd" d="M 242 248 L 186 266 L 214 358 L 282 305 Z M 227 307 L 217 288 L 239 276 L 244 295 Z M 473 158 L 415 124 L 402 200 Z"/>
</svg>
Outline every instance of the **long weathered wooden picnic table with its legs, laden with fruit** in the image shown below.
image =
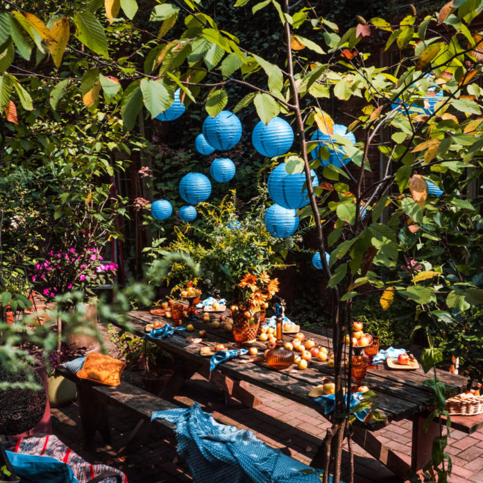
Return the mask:
<svg viewBox="0 0 483 483">
<path fill-rule="evenodd" d="M 221 314 L 212 314 L 220 316 Z M 150 312 L 133 311 L 130 312 L 130 322 L 133 324 L 134 332 L 138 336 L 146 334 L 147 323 L 154 321 L 169 321 L 160 316 L 154 316 Z M 312 359 L 305 371 L 300 371 L 295 366 L 283 371 L 275 371 L 264 362 L 246 362 L 248 355 L 230 359 L 219 364 L 210 373 L 210 357 L 200 355 L 201 346 L 214 345 L 221 343 L 228 348 L 237 347 L 232 339 L 232 334 L 221 328 L 212 328 L 211 323 L 201 320 L 191 322 L 194 332 L 176 332 L 173 337 L 165 339 L 150 339 L 161 348 L 176 355 L 177 367 L 175 374 L 169 385 L 169 393 L 164 393 L 165 398 L 172 398 L 178 394 L 180 387 L 185 380 L 199 373 L 210 382 L 225 391 L 226 394 L 243 402 L 248 407 L 256 407 L 260 400 L 257 400 L 250 391 L 250 384 L 261 387 L 272 393 L 276 393 L 289 400 L 294 400 L 307 407 L 316 409 L 323 415 L 321 407 L 308 396 L 311 389 L 321 384 L 324 379 L 330 380 L 334 375 L 334 369 L 329 368 L 326 362 L 319 362 Z M 207 337 L 201 344 L 187 341 L 187 338 L 198 337 L 198 330 L 207 331 Z M 316 344 L 332 348 L 332 339 L 328 335 L 313 334 L 303 330 L 306 337 L 311 337 Z M 293 337 L 284 335 L 285 340 Z M 266 343 L 261 341 L 252 344 L 263 353 Z M 455 393 L 461 393 L 468 389 L 469 380 L 461 375 L 455 375 L 446 371 L 437 371 L 439 380 L 452 388 Z M 432 371 L 425 374 L 422 368 L 414 371 L 391 371 L 385 364 L 378 364 L 376 369 L 369 369 L 363 384 L 368 386 L 378 396 L 379 410 L 385 416 L 385 421 L 372 420 L 368 424 L 355 423 L 353 425 L 353 440 L 362 446 L 375 459 L 382 462 L 396 475 L 406 478 L 407 472 L 412 469 L 421 469 L 430 460 L 432 439 L 437 434 L 438 425 L 430 425 L 427 434 L 423 432 L 423 423 L 429 414 L 433 398 L 430 389 L 423 385 L 423 382 L 432 377 Z M 329 418 L 330 415 L 325 416 Z M 407 459 L 400 457 L 387 446 L 378 441 L 373 431 L 380 429 L 391 421 L 401 421 L 410 419 L 413 423 L 412 431 L 412 458 L 409 464 Z M 483 426 L 483 415 L 473 416 L 471 421 L 466 416 L 452 416 L 452 429 L 463 430 L 464 432 L 474 432 Z M 321 448 L 316 452 L 312 460 L 312 466 L 320 467 L 323 463 Z"/>
</svg>

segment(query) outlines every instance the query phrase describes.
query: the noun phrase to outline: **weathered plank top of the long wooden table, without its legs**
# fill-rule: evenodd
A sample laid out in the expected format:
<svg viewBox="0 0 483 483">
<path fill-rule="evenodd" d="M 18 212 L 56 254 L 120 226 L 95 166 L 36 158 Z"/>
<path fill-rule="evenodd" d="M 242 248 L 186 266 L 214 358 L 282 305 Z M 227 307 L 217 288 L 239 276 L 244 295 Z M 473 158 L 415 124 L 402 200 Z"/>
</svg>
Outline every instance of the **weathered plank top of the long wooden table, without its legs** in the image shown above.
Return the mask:
<svg viewBox="0 0 483 483">
<path fill-rule="evenodd" d="M 219 314 L 212 314 L 216 316 Z M 133 311 L 130 312 L 130 322 L 133 324 L 135 334 L 142 336 L 146 334 L 146 323 L 153 323 L 156 320 L 163 319 L 160 316 L 154 316 L 150 312 Z M 167 321 L 168 319 L 163 319 Z M 214 345 L 219 342 L 235 348 L 232 334 L 225 332 L 221 328 L 212 328 L 211 323 L 205 323 L 201 320 L 192 322 L 194 332 L 176 332 L 173 337 L 166 339 L 153 339 L 155 344 L 169 350 L 170 353 L 176 354 L 189 361 L 201 364 L 203 366 L 210 365 L 210 357 L 202 357 L 200 355 L 201 346 Z M 187 337 L 198 337 L 198 330 L 207 331 L 207 337 L 203 339 L 201 344 L 187 342 Z M 306 337 L 311 337 L 316 344 L 332 349 L 332 340 L 328 337 L 312 332 L 302 331 Z M 289 341 L 293 336 L 284 335 L 284 339 Z M 259 353 L 263 354 L 266 344 L 257 341 L 252 344 L 258 348 Z M 305 371 L 300 371 L 296 366 L 291 366 L 282 371 L 275 371 L 265 364 L 265 362 L 248 362 L 244 364 L 243 359 L 249 356 L 236 357 L 227 362 L 219 364 L 215 371 L 220 371 L 229 378 L 237 381 L 246 381 L 257 387 L 262 387 L 273 393 L 277 393 L 284 398 L 300 402 L 303 405 L 313 407 L 321 412 L 321 408 L 308 396 L 310 390 L 323 383 L 324 380 L 333 380 L 334 369 L 329 368 L 326 362 L 319 362 L 312 359 L 309 367 Z M 425 374 L 420 367 L 414 371 L 391 371 L 385 368 L 384 364 L 377 364 L 376 369 L 369 369 L 363 384 L 368 386 L 378 396 L 380 411 L 387 417 L 384 423 L 376 423 L 366 425 L 366 429 L 376 430 L 381 425 L 388 424 L 390 421 L 400 421 L 401 419 L 411 418 L 418 414 L 424 414 L 432 405 L 432 393 L 430 389 L 423 385 L 423 382 L 432 377 L 432 371 Z M 455 390 L 455 393 L 466 391 L 468 379 L 461 376 L 448 373 L 446 371 L 437 371 L 438 378 Z"/>
</svg>

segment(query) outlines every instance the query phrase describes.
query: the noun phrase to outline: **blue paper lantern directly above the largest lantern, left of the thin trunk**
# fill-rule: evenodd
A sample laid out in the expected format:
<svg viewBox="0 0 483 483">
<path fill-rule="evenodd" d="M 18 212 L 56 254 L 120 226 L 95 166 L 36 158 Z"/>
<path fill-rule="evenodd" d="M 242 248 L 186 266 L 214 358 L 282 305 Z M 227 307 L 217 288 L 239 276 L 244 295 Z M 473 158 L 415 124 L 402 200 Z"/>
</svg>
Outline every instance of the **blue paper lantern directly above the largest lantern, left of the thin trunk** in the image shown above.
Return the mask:
<svg viewBox="0 0 483 483">
<path fill-rule="evenodd" d="M 266 158 L 287 153 L 294 143 L 294 131 L 290 124 L 280 117 L 274 117 L 265 126 L 260 121 L 253 129 L 253 147 Z"/>
</svg>

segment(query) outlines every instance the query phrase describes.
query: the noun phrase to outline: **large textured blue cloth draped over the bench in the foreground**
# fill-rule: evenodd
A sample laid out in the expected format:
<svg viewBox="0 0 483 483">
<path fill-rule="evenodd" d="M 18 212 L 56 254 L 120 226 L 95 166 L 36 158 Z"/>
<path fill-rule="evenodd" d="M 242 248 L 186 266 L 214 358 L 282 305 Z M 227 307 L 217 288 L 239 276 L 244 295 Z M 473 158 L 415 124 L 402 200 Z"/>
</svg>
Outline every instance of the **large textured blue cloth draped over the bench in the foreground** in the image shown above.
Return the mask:
<svg viewBox="0 0 483 483">
<path fill-rule="evenodd" d="M 153 412 L 151 420 L 158 418 L 176 424 L 178 454 L 196 483 L 321 482 L 321 470 L 301 473 L 312 468 L 269 448 L 251 431 L 217 423 L 196 402 L 186 409 Z"/>
</svg>

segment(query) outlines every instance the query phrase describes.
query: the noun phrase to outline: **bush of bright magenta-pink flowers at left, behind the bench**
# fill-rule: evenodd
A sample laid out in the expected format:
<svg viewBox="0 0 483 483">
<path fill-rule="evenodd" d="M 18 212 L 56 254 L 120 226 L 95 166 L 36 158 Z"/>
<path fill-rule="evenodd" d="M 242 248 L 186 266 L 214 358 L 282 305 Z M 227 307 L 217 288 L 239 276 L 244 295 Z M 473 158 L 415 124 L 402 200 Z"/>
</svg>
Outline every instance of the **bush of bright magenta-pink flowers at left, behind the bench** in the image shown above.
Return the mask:
<svg viewBox="0 0 483 483">
<path fill-rule="evenodd" d="M 76 248 L 51 250 L 43 262 L 35 264 L 31 280 L 43 287 L 44 296 L 53 298 L 71 289 L 89 291 L 89 287 L 103 285 L 112 280 L 117 268 L 115 263 L 103 262 L 97 248 L 86 248 L 80 253 Z"/>
</svg>

